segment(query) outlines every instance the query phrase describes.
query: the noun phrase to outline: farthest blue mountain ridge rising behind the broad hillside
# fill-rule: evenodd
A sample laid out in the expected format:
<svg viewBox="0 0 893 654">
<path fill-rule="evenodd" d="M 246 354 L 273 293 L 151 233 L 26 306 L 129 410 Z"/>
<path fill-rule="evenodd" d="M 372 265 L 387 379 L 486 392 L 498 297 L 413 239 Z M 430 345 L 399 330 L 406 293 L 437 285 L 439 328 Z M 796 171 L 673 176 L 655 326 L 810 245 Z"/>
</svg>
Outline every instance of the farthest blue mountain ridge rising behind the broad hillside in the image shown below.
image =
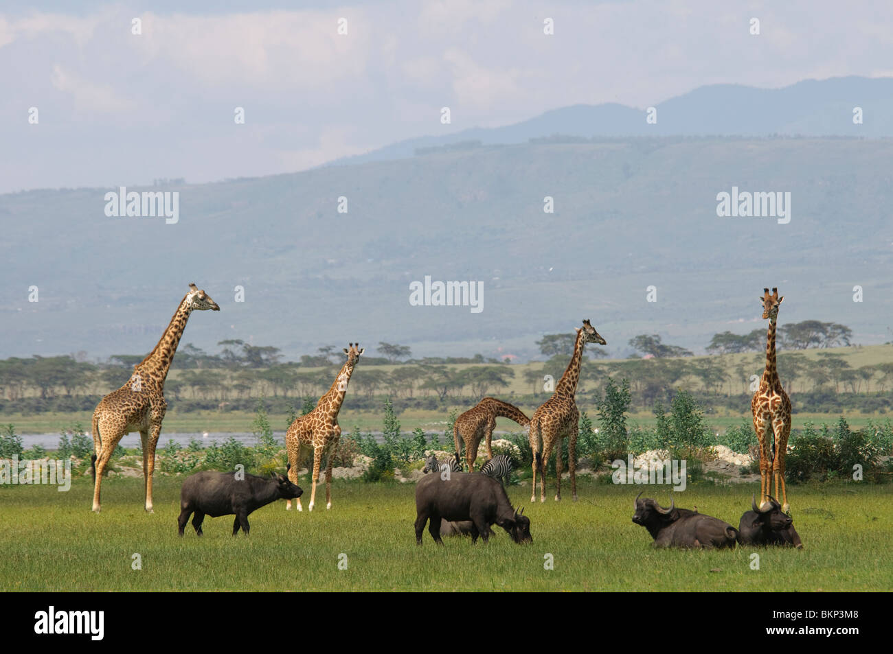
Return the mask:
<svg viewBox="0 0 893 654">
<path fill-rule="evenodd" d="M 864 122 L 853 123 L 853 108 Z M 655 104 L 657 122 L 647 124 L 645 107 L 578 104 L 545 112 L 501 128 L 471 128 L 440 137 L 419 137 L 327 165 L 411 157 L 417 149 L 480 141 L 482 145 L 526 143 L 562 134 L 574 137 L 848 136 L 893 137 L 893 79 L 809 79 L 764 89 L 736 84 L 699 87 Z"/>
</svg>

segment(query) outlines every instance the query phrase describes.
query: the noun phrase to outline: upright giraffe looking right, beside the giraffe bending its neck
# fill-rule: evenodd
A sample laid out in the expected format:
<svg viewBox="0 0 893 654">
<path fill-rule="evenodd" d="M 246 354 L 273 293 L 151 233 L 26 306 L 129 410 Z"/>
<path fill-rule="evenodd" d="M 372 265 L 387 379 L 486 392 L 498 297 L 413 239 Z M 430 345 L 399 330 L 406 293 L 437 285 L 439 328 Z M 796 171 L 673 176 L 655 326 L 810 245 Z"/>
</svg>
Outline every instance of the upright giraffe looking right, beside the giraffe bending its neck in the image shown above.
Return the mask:
<svg viewBox="0 0 893 654">
<path fill-rule="evenodd" d="M 606 345 L 605 339 L 598 334 L 595 327 L 583 320 L 583 327 L 577 328 L 577 340 L 573 345 L 571 362 L 558 385 L 555 393 L 530 418 L 530 450 L 533 451 L 533 488 L 530 501 L 537 501 L 537 469 L 539 470 L 539 501 L 546 501 L 546 464 L 549 455 L 561 439 L 567 436 L 568 466 L 571 468 L 571 491 L 573 501 L 577 501 L 577 432 L 580 428 L 580 411 L 573 395 L 580 380 L 580 364 L 583 360 L 583 347 L 587 343 Z M 542 457 L 539 446 L 542 444 Z M 555 451 L 555 476 L 557 476 L 555 501 L 561 500 L 561 448 Z"/>
</svg>

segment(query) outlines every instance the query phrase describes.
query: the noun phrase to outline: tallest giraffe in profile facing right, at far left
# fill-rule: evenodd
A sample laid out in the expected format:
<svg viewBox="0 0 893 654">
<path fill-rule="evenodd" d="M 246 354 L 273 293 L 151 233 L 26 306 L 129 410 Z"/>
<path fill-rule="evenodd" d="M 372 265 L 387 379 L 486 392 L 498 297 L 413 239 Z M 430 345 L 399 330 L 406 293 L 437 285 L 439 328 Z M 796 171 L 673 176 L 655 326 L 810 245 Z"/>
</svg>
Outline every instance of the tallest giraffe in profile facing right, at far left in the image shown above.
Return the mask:
<svg viewBox="0 0 893 654">
<path fill-rule="evenodd" d="M 219 311 L 211 296 L 189 285 L 189 292 L 179 302 L 171 323 L 154 350 L 133 367 L 133 375 L 117 391 L 106 395 L 93 411 L 93 510 L 99 513 L 99 488 L 115 445 L 125 434 L 139 432 L 143 443 L 143 476 L 146 479 L 146 511 L 152 509 L 152 474 L 155 468 L 155 445 L 162 431 L 167 410 L 164 402 L 164 379 L 171 369 L 180 336 L 194 310 Z"/>
</svg>

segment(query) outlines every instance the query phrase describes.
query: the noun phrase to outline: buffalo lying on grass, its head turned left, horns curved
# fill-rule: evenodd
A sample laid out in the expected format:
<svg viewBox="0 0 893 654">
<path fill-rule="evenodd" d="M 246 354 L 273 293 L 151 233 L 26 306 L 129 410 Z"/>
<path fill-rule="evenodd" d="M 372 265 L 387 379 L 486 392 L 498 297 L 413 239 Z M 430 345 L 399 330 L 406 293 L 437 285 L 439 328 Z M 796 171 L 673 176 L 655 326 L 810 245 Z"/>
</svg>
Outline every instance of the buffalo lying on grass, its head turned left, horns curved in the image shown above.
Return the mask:
<svg viewBox="0 0 893 654">
<path fill-rule="evenodd" d="M 735 547 L 738 530 L 717 517 L 705 516 L 689 509 L 677 509 L 672 500 L 669 509 L 656 501 L 636 496 L 636 513 L 632 521 L 644 526 L 655 539 L 655 547 L 714 548 Z"/>
</svg>

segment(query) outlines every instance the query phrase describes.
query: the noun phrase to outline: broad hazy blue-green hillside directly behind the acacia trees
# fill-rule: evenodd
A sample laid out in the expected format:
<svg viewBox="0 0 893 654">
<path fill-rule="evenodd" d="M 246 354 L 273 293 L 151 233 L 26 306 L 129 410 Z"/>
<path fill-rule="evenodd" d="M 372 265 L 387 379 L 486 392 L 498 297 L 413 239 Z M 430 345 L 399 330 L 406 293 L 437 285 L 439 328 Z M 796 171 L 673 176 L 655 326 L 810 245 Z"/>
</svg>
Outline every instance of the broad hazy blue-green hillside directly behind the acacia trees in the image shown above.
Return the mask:
<svg viewBox="0 0 893 654">
<path fill-rule="evenodd" d="M 148 352 L 192 281 L 221 311 L 196 314 L 183 343 L 211 352 L 225 338 L 292 358 L 386 341 L 418 357 L 525 360 L 581 319 L 615 357 L 643 333 L 703 352 L 716 332 L 764 326 L 764 286 L 787 298 L 782 324 L 832 320 L 855 343 L 884 343 L 890 161 L 888 139 L 480 145 L 155 189 L 179 191 L 173 225 L 106 217 L 109 188 L 0 195 L 0 358 Z M 732 186 L 790 192 L 789 224 L 718 217 Z M 410 283 L 426 276 L 482 282 L 483 310 L 412 306 Z"/>
</svg>

